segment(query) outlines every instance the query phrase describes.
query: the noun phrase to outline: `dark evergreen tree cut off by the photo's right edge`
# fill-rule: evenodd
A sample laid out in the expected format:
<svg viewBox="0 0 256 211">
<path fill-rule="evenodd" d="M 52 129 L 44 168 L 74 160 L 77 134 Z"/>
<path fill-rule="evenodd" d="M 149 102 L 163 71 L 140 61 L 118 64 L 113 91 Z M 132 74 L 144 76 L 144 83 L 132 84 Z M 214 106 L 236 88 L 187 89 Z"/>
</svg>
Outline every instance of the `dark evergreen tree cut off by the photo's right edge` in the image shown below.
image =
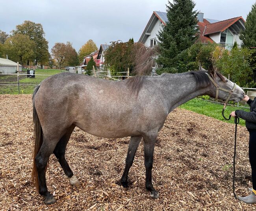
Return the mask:
<svg viewBox="0 0 256 211">
<path fill-rule="evenodd" d="M 245 30 L 241 31 L 240 39 L 243 41 L 243 47 L 256 47 L 256 3 L 252 5 L 252 10 L 249 12 Z"/>
</svg>

